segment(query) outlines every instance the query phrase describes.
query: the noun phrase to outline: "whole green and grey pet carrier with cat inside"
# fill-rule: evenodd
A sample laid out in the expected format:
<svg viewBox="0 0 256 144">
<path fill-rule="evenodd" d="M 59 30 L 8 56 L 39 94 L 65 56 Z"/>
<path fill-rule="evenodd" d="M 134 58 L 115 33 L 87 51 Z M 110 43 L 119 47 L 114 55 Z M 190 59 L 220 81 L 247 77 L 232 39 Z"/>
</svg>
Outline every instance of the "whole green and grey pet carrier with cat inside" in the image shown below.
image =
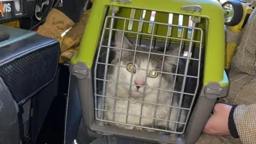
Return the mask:
<svg viewBox="0 0 256 144">
<path fill-rule="evenodd" d="M 223 27 L 218 1 L 94 1 L 70 66 L 88 129 L 195 143 L 228 91 Z"/>
</svg>

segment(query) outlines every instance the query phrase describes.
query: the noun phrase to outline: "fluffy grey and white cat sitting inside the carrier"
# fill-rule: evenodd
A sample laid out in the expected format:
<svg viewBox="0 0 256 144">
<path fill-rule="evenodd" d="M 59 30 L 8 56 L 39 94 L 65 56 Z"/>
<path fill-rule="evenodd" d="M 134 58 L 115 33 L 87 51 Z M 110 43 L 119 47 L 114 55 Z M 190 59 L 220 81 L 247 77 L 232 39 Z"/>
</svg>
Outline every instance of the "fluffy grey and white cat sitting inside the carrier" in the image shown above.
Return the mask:
<svg viewBox="0 0 256 144">
<path fill-rule="evenodd" d="M 116 32 L 115 35 L 115 47 L 121 48 L 122 45 L 122 37 L 123 34 L 121 32 Z M 117 97 L 121 99 L 115 99 L 113 98 L 106 98 L 105 99 L 105 110 L 109 111 L 116 111 L 115 113 L 115 120 L 114 122 L 117 123 L 108 123 L 108 125 L 114 125 L 117 127 L 121 127 L 123 129 L 130 129 L 130 130 L 145 130 L 148 132 L 156 132 L 154 130 L 150 129 L 141 129 L 135 126 L 130 126 L 130 125 L 123 125 L 123 124 L 118 124 L 118 123 L 126 123 L 126 113 L 127 113 L 127 108 L 128 108 L 128 100 L 123 100 L 123 99 L 129 99 L 130 96 L 130 83 L 131 83 L 131 77 L 132 77 L 132 84 L 136 84 L 131 86 L 131 100 L 136 100 L 136 101 L 130 101 L 129 104 L 129 111 L 127 116 L 127 124 L 131 125 L 139 125 L 140 123 L 140 117 L 134 116 L 134 115 L 140 115 L 141 114 L 141 105 L 142 102 L 142 97 L 143 97 L 143 91 L 145 89 L 145 102 L 143 104 L 143 110 L 142 110 L 142 116 L 141 117 L 141 126 L 146 126 L 146 127 L 152 127 L 155 115 L 155 110 L 156 110 L 156 115 L 155 115 L 155 128 L 161 127 L 165 129 L 167 122 L 166 121 L 159 121 L 158 119 L 165 119 L 168 120 L 168 115 L 169 111 L 171 110 L 170 113 L 170 119 L 169 121 L 176 122 L 176 118 L 178 116 L 178 109 L 177 108 L 170 108 L 166 107 L 167 106 L 174 106 L 178 107 L 179 103 L 179 93 L 174 93 L 172 97 L 172 92 L 169 91 L 163 91 L 159 90 L 159 97 L 158 97 L 158 102 L 157 102 L 157 94 L 158 90 L 157 89 L 150 89 L 148 87 L 156 87 L 158 88 L 159 86 L 159 81 L 161 81 L 161 87 L 160 89 L 165 89 L 165 90 L 174 90 L 174 75 L 170 74 L 157 74 L 154 70 L 161 71 L 162 68 L 162 62 L 163 62 L 163 55 L 156 55 L 156 54 L 150 54 L 150 59 L 148 63 L 148 53 L 142 53 L 142 52 L 136 52 L 135 54 L 135 62 L 133 63 L 133 58 L 134 58 L 134 51 L 127 51 L 127 50 L 135 50 L 135 46 L 132 44 L 132 42 L 124 35 L 123 38 L 123 47 L 122 47 L 122 53 L 120 52 L 119 49 L 114 49 L 114 60 L 112 60 L 110 63 L 111 65 L 119 65 L 119 57 L 121 56 L 120 60 L 120 65 L 124 67 L 119 67 L 119 76 L 117 80 L 117 71 L 118 67 L 116 66 L 109 66 L 108 68 L 108 74 L 107 74 L 107 80 L 108 81 L 118 81 L 121 83 L 118 83 L 117 85 L 117 92 L 116 92 L 116 84 L 115 82 L 107 82 L 106 83 L 106 96 L 107 97 Z M 125 50 L 127 49 L 127 50 Z M 139 47 L 137 46 L 138 51 L 143 51 L 143 52 L 149 52 L 149 49 L 146 47 Z M 151 52 L 153 53 L 159 53 L 163 54 L 163 48 L 162 50 L 155 50 L 151 49 Z M 179 56 L 179 48 L 171 50 L 171 51 L 166 51 L 166 54 L 168 55 L 174 55 L 174 56 Z M 178 58 L 176 57 L 166 57 L 164 60 L 164 67 L 163 71 L 166 73 L 175 73 L 175 70 L 177 68 L 177 62 Z M 141 68 L 141 69 L 147 69 L 148 65 L 148 70 L 151 71 L 146 71 L 146 70 L 139 70 L 139 69 L 132 69 L 132 68 L 125 68 L 127 66 L 131 67 L 132 64 L 134 64 L 135 68 Z M 184 63 L 182 61 L 179 61 L 179 66 L 180 67 L 185 67 Z M 133 73 L 133 76 L 132 76 Z M 147 81 L 146 78 L 147 77 Z M 161 78 L 161 79 L 160 79 Z M 145 84 L 146 81 L 146 84 Z M 123 84 L 127 83 L 127 84 Z M 180 84 L 176 83 L 175 85 Z M 182 84 L 182 83 L 181 83 Z M 176 88 L 177 90 L 180 90 L 181 84 Z M 148 86 L 148 87 L 142 87 L 142 86 Z M 176 87 L 176 86 L 175 86 Z M 115 96 L 116 95 L 116 96 Z M 173 99 L 173 101 L 172 101 Z M 171 105 L 172 101 L 172 105 Z M 155 105 L 151 103 L 158 103 L 159 105 L 157 108 Z M 161 105 L 161 106 L 160 106 Z M 165 105 L 165 106 L 163 106 Z M 187 107 L 190 106 L 190 103 L 185 103 Z M 189 106 L 188 106 L 189 105 Z M 115 110 L 114 110 L 115 106 Z M 124 113 L 124 114 L 122 114 Z M 187 110 L 181 110 L 181 115 L 180 115 L 180 121 L 182 123 L 186 122 L 187 118 Z M 150 117 L 150 118 L 146 118 Z M 104 119 L 107 121 L 113 121 L 113 113 L 105 111 L 105 116 Z M 174 130 L 175 123 L 169 122 L 169 126 L 167 130 L 173 131 Z M 182 128 L 182 124 L 178 126 L 179 129 Z"/>
</svg>

